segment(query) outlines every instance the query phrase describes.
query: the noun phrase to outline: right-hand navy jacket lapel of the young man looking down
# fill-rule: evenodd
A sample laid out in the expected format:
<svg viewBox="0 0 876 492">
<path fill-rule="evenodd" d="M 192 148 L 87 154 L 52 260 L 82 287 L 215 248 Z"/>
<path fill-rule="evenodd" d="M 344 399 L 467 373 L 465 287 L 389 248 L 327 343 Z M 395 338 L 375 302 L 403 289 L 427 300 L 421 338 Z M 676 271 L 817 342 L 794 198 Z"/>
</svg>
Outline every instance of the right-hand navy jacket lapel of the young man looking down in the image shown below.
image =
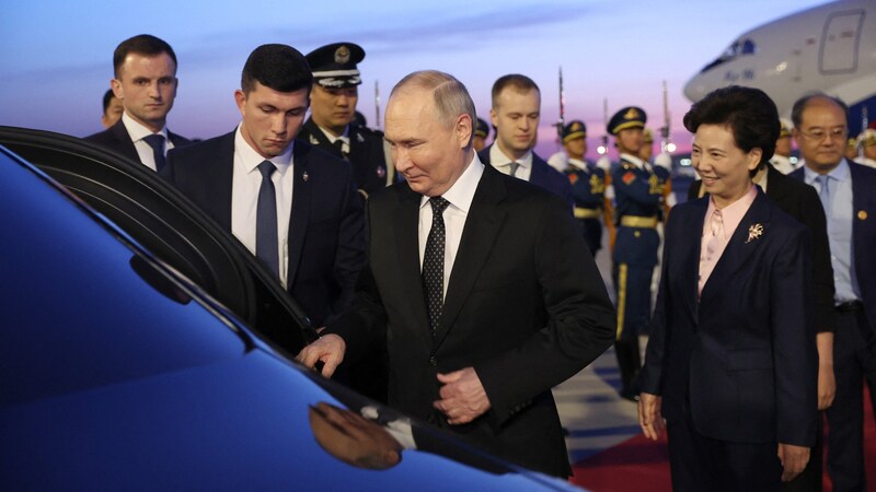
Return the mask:
<svg viewBox="0 0 876 492">
<path fill-rule="evenodd" d="M 301 260 L 301 251 L 304 245 L 304 235 L 310 221 L 311 207 L 311 186 L 308 184 L 308 166 L 310 161 L 310 145 L 292 147 L 292 213 L 289 215 L 289 236 L 288 255 L 289 268 L 287 270 L 287 285 L 295 283 L 295 276 L 298 273 L 298 265 Z"/>
</svg>

